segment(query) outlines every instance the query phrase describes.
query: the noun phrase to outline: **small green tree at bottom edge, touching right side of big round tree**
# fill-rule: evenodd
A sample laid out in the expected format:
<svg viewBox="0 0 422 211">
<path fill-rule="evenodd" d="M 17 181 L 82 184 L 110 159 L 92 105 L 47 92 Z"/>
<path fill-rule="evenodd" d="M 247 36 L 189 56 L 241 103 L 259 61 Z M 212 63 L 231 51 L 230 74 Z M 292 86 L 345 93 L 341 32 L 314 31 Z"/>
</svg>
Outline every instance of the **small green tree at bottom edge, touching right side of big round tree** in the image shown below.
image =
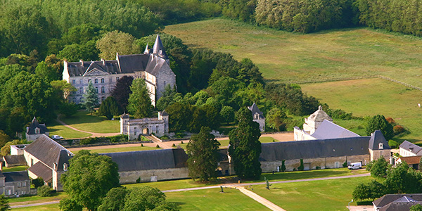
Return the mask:
<svg viewBox="0 0 422 211">
<path fill-rule="evenodd" d="M 129 193 L 129 190 L 124 187 L 111 188 L 107 192 L 103 202 L 98 207 L 98 211 L 118 211 L 124 208 L 124 199 Z"/>
</svg>

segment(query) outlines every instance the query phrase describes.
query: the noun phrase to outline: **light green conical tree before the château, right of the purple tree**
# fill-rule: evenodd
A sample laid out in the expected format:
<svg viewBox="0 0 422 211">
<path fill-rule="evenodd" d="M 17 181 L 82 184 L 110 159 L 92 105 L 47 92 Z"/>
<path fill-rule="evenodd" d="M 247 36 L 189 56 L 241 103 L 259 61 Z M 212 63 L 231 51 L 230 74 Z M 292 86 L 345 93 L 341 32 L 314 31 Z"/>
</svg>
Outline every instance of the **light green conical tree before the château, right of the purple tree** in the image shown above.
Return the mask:
<svg viewBox="0 0 422 211">
<path fill-rule="evenodd" d="M 134 115 L 135 118 L 150 117 L 153 112 L 153 105 L 145 80 L 134 79 L 130 90 L 132 94 L 129 94 L 129 103 L 127 104 L 129 113 Z"/>
</svg>

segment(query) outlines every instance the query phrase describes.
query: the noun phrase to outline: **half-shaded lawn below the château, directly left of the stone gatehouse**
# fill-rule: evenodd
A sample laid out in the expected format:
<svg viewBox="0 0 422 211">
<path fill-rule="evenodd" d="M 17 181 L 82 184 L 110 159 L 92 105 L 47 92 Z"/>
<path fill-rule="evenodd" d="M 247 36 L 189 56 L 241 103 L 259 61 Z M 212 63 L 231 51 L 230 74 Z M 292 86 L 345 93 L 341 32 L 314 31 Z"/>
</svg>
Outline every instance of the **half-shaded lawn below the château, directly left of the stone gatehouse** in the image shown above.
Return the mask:
<svg viewBox="0 0 422 211">
<path fill-rule="evenodd" d="M 76 129 L 94 133 L 117 133 L 120 132 L 119 120 L 106 120 L 106 117 L 91 115 L 87 111 L 78 111 L 76 115 L 60 120 Z M 64 137 L 64 136 L 63 136 Z"/>
</svg>

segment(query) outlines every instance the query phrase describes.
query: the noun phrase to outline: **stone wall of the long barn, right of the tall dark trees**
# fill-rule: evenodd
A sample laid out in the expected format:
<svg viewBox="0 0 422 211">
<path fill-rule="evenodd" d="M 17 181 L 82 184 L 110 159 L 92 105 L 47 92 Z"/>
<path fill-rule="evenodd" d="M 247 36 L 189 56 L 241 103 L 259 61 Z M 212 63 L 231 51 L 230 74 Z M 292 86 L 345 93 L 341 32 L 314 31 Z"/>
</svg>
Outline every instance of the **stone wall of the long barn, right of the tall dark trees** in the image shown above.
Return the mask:
<svg viewBox="0 0 422 211">
<path fill-rule="evenodd" d="M 331 158 L 309 158 L 303 159 L 305 170 L 315 170 L 316 167 L 321 169 L 326 168 L 338 168 L 343 167 L 343 163 L 347 160 L 347 164 L 350 162 L 362 162 L 362 165 L 366 165 L 370 160 L 369 155 L 352 155 L 352 156 L 341 156 Z M 281 171 L 282 161 L 271 161 L 261 162 L 262 172 L 279 172 Z M 300 166 L 300 159 L 286 160 L 286 171 L 298 170 Z"/>
</svg>

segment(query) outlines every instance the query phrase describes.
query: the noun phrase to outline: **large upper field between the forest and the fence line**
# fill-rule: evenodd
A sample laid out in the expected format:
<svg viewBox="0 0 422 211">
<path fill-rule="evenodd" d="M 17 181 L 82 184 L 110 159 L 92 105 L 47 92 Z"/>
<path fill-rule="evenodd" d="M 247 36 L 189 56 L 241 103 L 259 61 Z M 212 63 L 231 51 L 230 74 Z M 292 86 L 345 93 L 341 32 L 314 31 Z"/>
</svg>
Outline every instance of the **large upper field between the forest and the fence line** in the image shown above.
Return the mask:
<svg viewBox="0 0 422 211">
<path fill-rule="evenodd" d="M 384 75 L 422 87 L 422 39 L 358 27 L 312 34 L 215 18 L 166 26 L 193 48 L 250 58 L 264 79 L 282 82 Z"/>
</svg>

